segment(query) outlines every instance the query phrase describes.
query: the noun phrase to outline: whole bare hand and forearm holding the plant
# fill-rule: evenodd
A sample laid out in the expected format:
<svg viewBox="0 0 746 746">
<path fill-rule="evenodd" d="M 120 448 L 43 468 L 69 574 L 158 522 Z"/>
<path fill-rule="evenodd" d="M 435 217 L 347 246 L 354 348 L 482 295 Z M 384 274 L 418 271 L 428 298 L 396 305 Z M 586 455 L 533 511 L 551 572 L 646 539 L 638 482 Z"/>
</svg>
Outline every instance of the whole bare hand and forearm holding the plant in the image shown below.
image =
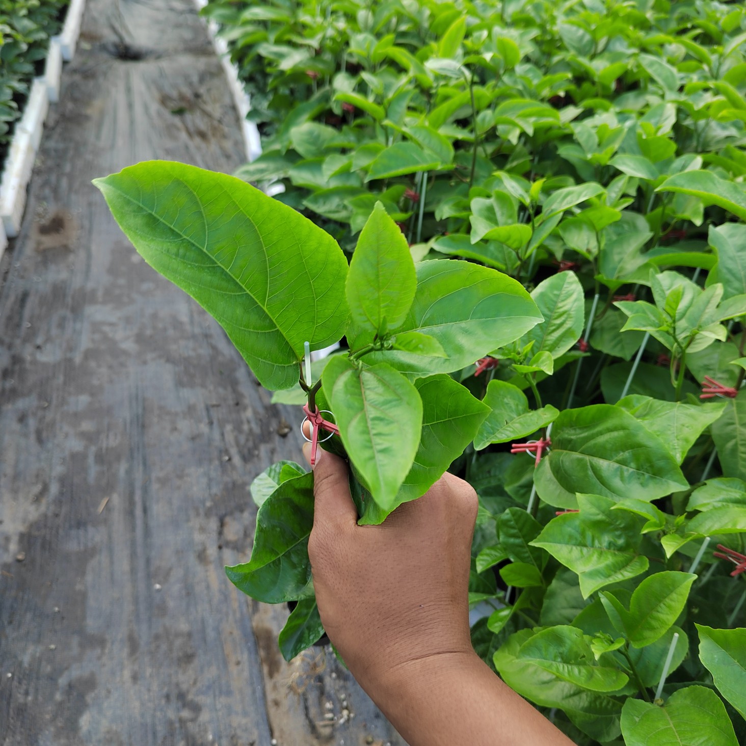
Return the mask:
<svg viewBox="0 0 746 746">
<path fill-rule="evenodd" d="M 380 526 L 358 526 L 345 462 L 321 448 L 317 457 L 308 554 L 319 613 L 360 686 L 407 743 L 572 746 L 471 647 L 474 489 L 446 473 Z"/>
</svg>

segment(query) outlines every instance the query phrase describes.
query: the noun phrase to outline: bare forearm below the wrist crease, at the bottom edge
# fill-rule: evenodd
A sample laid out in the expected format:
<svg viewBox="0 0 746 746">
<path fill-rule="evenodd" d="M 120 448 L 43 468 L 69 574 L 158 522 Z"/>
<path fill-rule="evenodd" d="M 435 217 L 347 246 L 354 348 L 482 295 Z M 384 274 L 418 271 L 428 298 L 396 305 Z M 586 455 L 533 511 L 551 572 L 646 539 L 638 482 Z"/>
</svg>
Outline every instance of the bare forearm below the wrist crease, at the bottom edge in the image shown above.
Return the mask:
<svg viewBox="0 0 746 746">
<path fill-rule="evenodd" d="M 361 679 L 410 746 L 572 746 L 476 653 L 442 653 Z"/>
</svg>

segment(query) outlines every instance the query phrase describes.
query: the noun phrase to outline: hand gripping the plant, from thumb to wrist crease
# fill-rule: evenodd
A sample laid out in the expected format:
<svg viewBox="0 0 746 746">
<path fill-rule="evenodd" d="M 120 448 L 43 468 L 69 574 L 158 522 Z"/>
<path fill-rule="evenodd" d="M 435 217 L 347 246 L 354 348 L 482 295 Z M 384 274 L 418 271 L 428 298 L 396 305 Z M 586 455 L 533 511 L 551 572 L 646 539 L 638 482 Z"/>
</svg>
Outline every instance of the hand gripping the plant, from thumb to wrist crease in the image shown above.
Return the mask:
<svg viewBox="0 0 746 746">
<path fill-rule="evenodd" d="M 309 444 L 305 454 L 308 458 Z M 439 657 L 474 656 L 468 627 L 474 489 L 443 476 L 379 526 L 358 526 L 345 462 L 319 448 L 308 542 L 324 628 L 374 695 Z"/>
</svg>

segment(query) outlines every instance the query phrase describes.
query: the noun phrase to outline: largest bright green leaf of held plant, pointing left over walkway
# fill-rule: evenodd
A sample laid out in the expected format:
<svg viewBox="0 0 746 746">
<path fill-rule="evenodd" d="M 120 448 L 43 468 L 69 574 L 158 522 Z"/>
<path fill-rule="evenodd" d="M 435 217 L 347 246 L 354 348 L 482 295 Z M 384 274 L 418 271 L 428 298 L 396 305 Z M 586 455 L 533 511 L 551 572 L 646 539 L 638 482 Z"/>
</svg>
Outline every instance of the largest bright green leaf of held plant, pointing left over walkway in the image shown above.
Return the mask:
<svg viewBox="0 0 746 746">
<path fill-rule="evenodd" d="M 347 260 L 295 210 L 240 179 L 147 161 L 96 179 L 145 261 L 214 316 L 268 389 L 298 380 L 303 343 L 344 333 Z"/>
</svg>

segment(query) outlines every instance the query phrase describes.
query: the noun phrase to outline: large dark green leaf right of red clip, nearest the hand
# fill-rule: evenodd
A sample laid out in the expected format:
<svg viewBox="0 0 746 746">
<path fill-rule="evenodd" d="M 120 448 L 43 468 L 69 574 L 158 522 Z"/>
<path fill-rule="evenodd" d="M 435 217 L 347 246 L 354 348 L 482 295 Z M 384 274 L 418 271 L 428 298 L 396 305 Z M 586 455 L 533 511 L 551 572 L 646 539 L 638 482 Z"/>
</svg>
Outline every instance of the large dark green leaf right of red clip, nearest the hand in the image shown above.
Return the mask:
<svg viewBox="0 0 746 746">
<path fill-rule="evenodd" d="M 688 486 L 660 439 L 610 404 L 560 413 L 551 440 L 534 477 L 539 497 L 550 505 L 577 507 L 576 492 L 654 500 Z"/>
</svg>

